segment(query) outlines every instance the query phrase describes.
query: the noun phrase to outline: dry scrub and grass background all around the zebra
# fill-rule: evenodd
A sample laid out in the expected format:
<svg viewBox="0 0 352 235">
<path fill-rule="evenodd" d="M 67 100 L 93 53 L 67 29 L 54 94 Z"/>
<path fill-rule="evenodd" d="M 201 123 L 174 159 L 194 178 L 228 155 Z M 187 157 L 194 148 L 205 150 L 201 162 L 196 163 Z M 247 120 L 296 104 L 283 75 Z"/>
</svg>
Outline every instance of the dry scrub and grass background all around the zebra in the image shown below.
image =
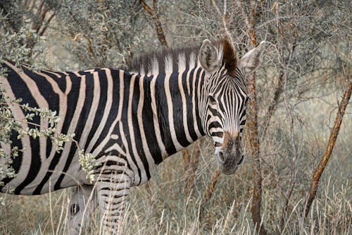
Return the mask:
<svg viewBox="0 0 352 235">
<path fill-rule="evenodd" d="M 347 235 L 352 233 L 351 105 L 336 143 L 329 135 L 344 92 L 351 89 L 351 8 L 343 0 L 6 0 L 0 3 L 0 59 L 61 70 L 125 67 L 146 48 L 230 37 L 240 55 L 267 40 L 263 67 L 249 80 L 256 85 L 251 98 L 258 119 L 249 117 L 254 120 L 249 128 L 257 129 L 246 131 L 251 138 L 244 141 L 244 165 L 232 176 L 219 175 L 208 138 L 201 140 L 198 161 L 191 158 L 193 145 L 188 155 L 166 159 L 146 186 L 132 188 L 123 234 Z M 31 33 L 20 31 L 28 26 L 25 18 L 32 19 Z M 16 33 L 23 37 L 14 43 Z M 23 44 L 30 53 L 14 51 Z M 251 150 L 253 141 L 257 151 Z M 327 145 L 332 155 L 304 217 Z M 69 196 L 70 189 L 0 195 L 0 234 L 65 234 Z M 92 215 L 87 234 L 99 234 L 97 218 Z"/>
</svg>

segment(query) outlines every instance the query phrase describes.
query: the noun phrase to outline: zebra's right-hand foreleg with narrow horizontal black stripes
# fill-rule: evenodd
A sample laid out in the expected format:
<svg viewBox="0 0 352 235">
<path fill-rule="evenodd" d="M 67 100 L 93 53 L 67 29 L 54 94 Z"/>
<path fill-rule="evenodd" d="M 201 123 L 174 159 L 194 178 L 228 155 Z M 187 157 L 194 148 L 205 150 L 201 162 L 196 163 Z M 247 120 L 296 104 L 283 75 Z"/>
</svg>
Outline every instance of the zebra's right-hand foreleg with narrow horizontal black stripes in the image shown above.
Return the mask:
<svg viewBox="0 0 352 235">
<path fill-rule="evenodd" d="M 99 176 L 96 191 L 101 211 L 102 234 L 121 234 L 131 185 L 124 172 L 105 171 Z"/>
</svg>

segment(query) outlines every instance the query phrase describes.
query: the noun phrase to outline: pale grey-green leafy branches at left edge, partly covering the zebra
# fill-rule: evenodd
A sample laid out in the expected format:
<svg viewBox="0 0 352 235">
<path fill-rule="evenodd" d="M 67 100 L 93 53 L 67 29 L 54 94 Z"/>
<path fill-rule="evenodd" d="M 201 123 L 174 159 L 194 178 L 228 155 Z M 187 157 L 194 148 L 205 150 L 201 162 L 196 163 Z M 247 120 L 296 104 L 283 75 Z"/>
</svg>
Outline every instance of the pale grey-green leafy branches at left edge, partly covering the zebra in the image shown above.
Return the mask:
<svg viewBox="0 0 352 235">
<path fill-rule="evenodd" d="M 6 16 L 0 15 L 0 20 L 7 20 Z M 44 37 L 39 37 L 35 30 L 32 30 L 32 20 L 23 20 L 22 26 L 18 32 L 10 33 L 6 32 L 4 35 L 0 35 L 0 44 L 4 47 L 0 47 L 0 61 L 4 59 L 10 59 L 20 67 L 20 64 L 30 61 L 30 56 L 34 52 L 41 52 L 37 47 L 29 48 L 24 42 L 31 40 L 32 43 L 37 43 L 39 40 L 44 40 Z M 0 76 L 6 78 L 6 68 L 0 64 Z M 1 84 L 0 84 L 1 85 Z M 5 95 L 6 90 L 0 90 L 0 142 L 5 144 L 11 144 L 11 135 L 17 133 L 18 139 L 23 136 L 30 136 L 31 138 L 49 138 L 53 146 L 56 147 L 56 152 L 63 150 L 64 143 L 68 141 L 75 141 L 72 134 L 63 134 L 57 132 L 57 124 L 60 118 L 56 115 L 56 112 L 51 111 L 47 108 L 29 107 L 28 104 L 21 104 L 20 98 L 11 100 L 10 97 Z M 26 113 L 24 120 L 16 120 L 13 117 L 10 107 L 18 105 L 23 112 Z M 39 126 L 32 123 L 34 116 L 38 116 L 41 120 L 47 121 L 49 126 Z M 44 122 L 45 122 L 44 121 Z M 25 127 L 23 125 L 25 123 Z M 28 125 L 29 124 L 29 125 Z M 77 143 L 76 143 L 77 144 Z M 78 145 L 77 145 L 78 146 Z M 17 146 L 11 148 L 10 154 L 7 154 L 3 148 L 0 147 L 0 158 L 4 158 L 4 164 L 0 164 L 0 186 L 4 186 L 3 180 L 6 178 L 14 178 L 16 176 L 15 170 L 11 166 L 13 158 L 18 157 L 18 151 L 25 151 L 25 149 L 18 149 Z M 95 158 L 84 152 L 79 151 L 80 163 L 82 162 L 82 168 L 87 173 L 87 179 L 89 181 L 95 180 L 94 167 L 98 167 L 99 164 L 95 162 Z M 10 191 L 12 189 L 10 188 Z"/>
</svg>

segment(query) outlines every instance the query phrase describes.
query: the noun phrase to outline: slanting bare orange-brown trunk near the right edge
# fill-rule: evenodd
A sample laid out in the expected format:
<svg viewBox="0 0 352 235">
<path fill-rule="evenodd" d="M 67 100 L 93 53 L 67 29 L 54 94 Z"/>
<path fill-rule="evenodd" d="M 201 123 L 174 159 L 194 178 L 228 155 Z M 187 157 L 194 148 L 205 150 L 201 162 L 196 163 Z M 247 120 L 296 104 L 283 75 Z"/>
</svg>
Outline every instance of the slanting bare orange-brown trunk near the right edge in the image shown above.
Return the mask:
<svg viewBox="0 0 352 235">
<path fill-rule="evenodd" d="M 344 118 L 348 101 L 351 98 L 351 92 L 352 92 L 352 82 L 350 81 L 348 84 L 348 88 L 344 92 L 344 97 L 342 98 L 341 103 L 339 104 L 339 110 L 337 112 L 334 127 L 332 128 L 332 132 L 330 133 L 329 141 L 327 143 L 327 147 L 325 149 L 324 155 L 322 155 L 322 159 L 320 159 L 320 162 L 314 171 L 312 182 L 310 183 L 309 195 L 306 200 L 306 205 L 303 208 L 304 217 L 307 217 L 309 213 L 310 206 L 312 205 L 315 195 L 317 194 L 317 191 L 318 191 L 320 177 L 322 176 L 322 172 L 324 171 L 327 165 L 327 162 L 331 157 L 332 150 L 334 149 L 334 145 L 337 140 L 337 135 L 339 135 L 342 119 Z"/>
</svg>

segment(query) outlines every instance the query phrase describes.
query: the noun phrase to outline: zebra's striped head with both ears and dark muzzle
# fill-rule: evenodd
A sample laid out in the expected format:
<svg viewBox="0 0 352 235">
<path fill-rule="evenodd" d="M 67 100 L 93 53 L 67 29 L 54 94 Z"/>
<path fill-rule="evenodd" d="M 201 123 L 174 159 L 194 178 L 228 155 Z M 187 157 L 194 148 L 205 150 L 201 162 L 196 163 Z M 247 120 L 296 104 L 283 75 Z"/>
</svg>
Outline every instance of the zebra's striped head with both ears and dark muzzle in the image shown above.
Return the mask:
<svg viewBox="0 0 352 235">
<path fill-rule="evenodd" d="M 247 73 L 260 64 L 265 42 L 237 61 L 234 47 L 227 40 L 213 44 L 204 40 L 199 62 L 206 71 L 203 93 L 203 128 L 213 139 L 222 173 L 233 174 L 244 162 L 241 132 L 246 123 Z"/>
</svg>

